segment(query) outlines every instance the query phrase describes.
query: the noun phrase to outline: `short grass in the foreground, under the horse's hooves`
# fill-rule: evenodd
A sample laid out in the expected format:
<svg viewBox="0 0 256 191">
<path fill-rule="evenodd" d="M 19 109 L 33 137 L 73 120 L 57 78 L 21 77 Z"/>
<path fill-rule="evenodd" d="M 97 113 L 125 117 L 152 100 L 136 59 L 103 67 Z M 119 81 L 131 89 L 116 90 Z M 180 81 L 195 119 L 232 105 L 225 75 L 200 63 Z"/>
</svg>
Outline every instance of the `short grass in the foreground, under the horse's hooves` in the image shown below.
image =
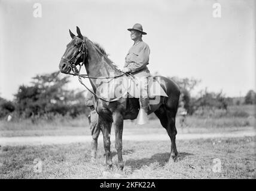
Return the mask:
<svg viewBox="0 0 256 191">
<path fill-rule="evenodd" d="M 124 141 L 123 172 L 115 166 L 112 143 L 114 167 L 108 173 L 102 143 L 96 163 L 90 162 L 90 143 L 4 146 L 0 178 L 256 178 L 255 138 L 178 140 L 178 160 L 171 164 L 169 141 Z M 41 173 L 33 171 L 35 158 L 42 161 Z M 216 158 L 221 172 L 213 171 Z"/>
</svg>

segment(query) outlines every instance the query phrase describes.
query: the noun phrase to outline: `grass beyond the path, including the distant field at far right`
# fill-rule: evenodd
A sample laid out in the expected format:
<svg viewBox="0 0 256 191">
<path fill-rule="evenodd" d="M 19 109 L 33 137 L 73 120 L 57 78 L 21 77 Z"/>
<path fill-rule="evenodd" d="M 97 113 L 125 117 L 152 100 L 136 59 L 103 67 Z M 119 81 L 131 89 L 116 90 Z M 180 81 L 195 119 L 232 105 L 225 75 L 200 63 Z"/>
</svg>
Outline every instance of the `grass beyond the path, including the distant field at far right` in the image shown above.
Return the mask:
<svg viewBox="0 0 256 191">
<path fill-rule="evenodd" d="M 215 133 L 255 127 L 255 105 L 230 106 L 228 113 L 230 115 L 220 118 L 187 116 L 184 128 L 181 128 L 180 116 L 177 116 L 176 127 L 178 132 L 185 133 Z M 248 116 L 239 116 L 241 113 Z M 124 121 L 124 131 L 133 133 L 133 130 L 136 130 L 135 133 L 139 133 L 138 129 L 141 129 L 141 133 L 145 133 L 144 130 L 151 133 L 164 131 L 159 119 L 153 119 L 149 125 L 142 127 L 135 125 L 132 121 Z M 59 116 L 53 121 L 39 120 L 36 124 L 33 124 L 30 119 L 0 121 L 0 137 L 42 135 L 90 135 L 88 119 L 85 115 L 81 115 L 75 119 Z"/>
</svg>

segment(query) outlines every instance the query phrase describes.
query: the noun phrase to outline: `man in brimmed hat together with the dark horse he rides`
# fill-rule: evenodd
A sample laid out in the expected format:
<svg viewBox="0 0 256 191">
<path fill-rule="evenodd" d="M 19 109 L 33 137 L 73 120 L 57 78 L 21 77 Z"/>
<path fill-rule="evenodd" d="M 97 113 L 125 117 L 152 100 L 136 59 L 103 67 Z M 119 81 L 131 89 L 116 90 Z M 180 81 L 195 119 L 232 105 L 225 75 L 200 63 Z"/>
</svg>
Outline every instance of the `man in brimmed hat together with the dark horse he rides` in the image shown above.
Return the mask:
<svg viewBox="0 0 256 191">
<path fill-rule="evenodd" d="M 130 76 L 128 72 L 135 72 L 136 79 L 140 82 L 144 82 L 144 88 L 142 88 L 142 90 L 147 90 L 148 85 L 145 85 L 147 81 L 141 80 L 141 78 L 147 78 L 150 75 L 146 66 L 150 50 L 148 45 L 141 40 L 141 36 L 145 33 L 139 24 L 135 24 L 135 26 L 129 30 L 131 30 L 132 33 L 131 38 L 135 39 L 135 44 L 130 49 L 129 54 L 127 54 L 124 72 L 126 72 L 128 76 Z M 144 109 L 139 110 L 140 105 L 136 97 L 121 97 L 114 98 L 114 100 L 105 100 L 104 97 L 96 94 L 101 85 L 97 83 L 98 79 L 109 79 L 109 81 L 113 81 L 113 79 L 125 79 L 126 73 L 120 72 L 108 58 L 105 51 L 100 50 L 97 44 L 90 41 L 86 36 L 83 36 L 79 27 L 77 27 L 77 36 L 74 35 L 71 30 L 69 30 L 69 33 L 72 39 L 66 46 L 65 53 L 60 60 L 60 72 L 78 76 L 80 83 L 84 85 L 84 87 L 86 87 L 86 85 L 83 84 L 81 78 L 89 78 L 93 88 L 91 93 L 96 97 L 95 110 L 97 114 L 99 114 L 98 122 L 103 134 L 106 165 L 108 168 L 112 167 L 110 135 L 111 126 L 113 125 L 118 168 L 123 170 L 123 122 L 125 119 L 136 119 L 136 117 L 139 116 L 139 112 Z M 76 69 L 78 65 L 80 69 L 81 66 L 85 67 L 87 75 L 80 74 L 80 69 Z M 114 76 L 110 76 L 110 73 L 114 73 Z M 150 114 L 154 112 L 160 119 L 163 128 L 166 129 L 171 141 L 169 161 L 175 161 L 178 155 L 176 149 L 177 131 L 175 121 L 179 104 L 179 87 L 175 82 L 164 76 L 154 76 L 153 80 L 160 84 L 160 87 L 167 96 L 156 94 L 155 96 L 159 98 L 157 99 L 159 101 L 157 101 L 157 103 L 150 103 L 147 113 Z M 89 90 L 88 87 L 86 88 Z M 147 91 L 144 91 L 144 93 L 147 93 Z M 145 109 L 147 109 L 148 105 L 147 97 L 148 96 L 145 96 L 145 94 L 141 94 L 140 97 L 141 101 L 143 100 L 142 107 Z M 144 101 L 144 98 L 146 98 L 147 102 Z"/>
</svg>

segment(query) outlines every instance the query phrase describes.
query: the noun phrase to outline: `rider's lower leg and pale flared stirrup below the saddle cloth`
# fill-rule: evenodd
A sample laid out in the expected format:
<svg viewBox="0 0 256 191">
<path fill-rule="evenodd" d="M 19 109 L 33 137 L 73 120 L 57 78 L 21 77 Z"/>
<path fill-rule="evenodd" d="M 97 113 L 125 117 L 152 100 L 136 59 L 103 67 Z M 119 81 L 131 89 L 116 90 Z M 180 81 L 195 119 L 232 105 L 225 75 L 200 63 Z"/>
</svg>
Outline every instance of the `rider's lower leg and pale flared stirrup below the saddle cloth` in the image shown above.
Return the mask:
<svg viewBox="0 0 256 191">
<path fill-rule="evenodd" d="M 137 116 L 136 124 L 143 125 L 148 124 L 148 98 L 140 98 L 141 101 L 141 109 L 139 109 L 139 114 Z"/>
</svg>

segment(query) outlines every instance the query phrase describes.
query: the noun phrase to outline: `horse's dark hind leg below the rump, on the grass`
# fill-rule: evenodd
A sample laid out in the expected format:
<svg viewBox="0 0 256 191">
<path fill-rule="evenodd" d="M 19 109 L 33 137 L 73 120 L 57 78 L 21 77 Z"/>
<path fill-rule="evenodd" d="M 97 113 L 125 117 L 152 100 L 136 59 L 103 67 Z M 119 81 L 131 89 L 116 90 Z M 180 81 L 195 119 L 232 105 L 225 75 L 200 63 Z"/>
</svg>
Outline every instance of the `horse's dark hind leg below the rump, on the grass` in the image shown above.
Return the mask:
<svg viewBox="0 0 256 191">
<path fill-rule="evenodd" d="M 175 161 L 178 151 L 176 149 L 176 134 L 177 130 L 175 127 L 175 110 L 167 109 L 165 105 L 162 105 L 154 113 L 160 119 L 161 125 L 166 129 L 171 145 L 170 145 L 170 160 Z"/>
</svg>

